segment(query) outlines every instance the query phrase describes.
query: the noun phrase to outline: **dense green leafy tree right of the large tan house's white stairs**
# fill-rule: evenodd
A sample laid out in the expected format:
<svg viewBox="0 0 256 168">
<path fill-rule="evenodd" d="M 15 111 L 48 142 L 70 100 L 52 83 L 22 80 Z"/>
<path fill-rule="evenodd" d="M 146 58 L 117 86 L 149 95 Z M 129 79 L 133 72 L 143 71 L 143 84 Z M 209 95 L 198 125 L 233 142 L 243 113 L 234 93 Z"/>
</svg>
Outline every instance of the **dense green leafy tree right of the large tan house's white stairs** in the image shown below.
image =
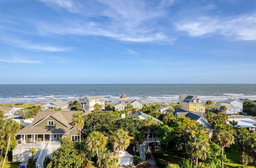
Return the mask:
<svg viewBox="0 0 256 168">
<path fill-rule="evenodd" d="M 57 149 L 52 155 L 51 162 L 47 165 L 47 168 L 53 167 L 81 167 L 82 158 L 80 157 L 78 150 L 75 148 L 75 143 L 70 138 L 61 139 L 61 147 Z"/>
</svg>

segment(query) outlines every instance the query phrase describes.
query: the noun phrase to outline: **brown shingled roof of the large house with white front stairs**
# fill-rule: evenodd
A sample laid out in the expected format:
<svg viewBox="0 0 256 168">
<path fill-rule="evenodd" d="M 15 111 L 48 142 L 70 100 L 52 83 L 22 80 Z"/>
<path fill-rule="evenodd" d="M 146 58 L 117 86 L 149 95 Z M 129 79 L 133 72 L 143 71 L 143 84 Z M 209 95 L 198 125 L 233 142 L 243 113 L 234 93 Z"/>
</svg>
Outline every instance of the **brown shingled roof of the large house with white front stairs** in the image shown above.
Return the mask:
<svg viewBox="0 0 256 168">
<path fill-rule="evenodd" d="M 77 111 L 38 111 L 35 116 L 33 122 L 27 127 L 19 130 L 17 134 L 50 134 L 50 133 L 69 133 L 69 131 L 73 128 L 72 125 L 72 116 L 76 114 Z M 48 117 L 52 117 L 55 120 L 59 121 L 65 127 L 55 127 L 55 126 L 44 126 L 44 127 L 35 127 L 41 121 L 47 119 Z"/>
</svg>

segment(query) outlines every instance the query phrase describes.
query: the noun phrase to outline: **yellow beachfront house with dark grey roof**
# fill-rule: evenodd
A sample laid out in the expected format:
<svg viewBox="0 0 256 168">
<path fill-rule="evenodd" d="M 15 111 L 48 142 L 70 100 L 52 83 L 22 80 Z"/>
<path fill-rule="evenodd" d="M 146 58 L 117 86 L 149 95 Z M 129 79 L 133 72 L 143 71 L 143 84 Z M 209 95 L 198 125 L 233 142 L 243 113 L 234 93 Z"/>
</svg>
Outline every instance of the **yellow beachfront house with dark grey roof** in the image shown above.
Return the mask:
<svg viewBox="0 0 256 168">
<path fill-rule="evenodd" d="M 205 113 L 205 102 L 198 99 L 196 96 L 188 95 L 181 101 L 181 108 L 186 111 Z"/>
</svg>

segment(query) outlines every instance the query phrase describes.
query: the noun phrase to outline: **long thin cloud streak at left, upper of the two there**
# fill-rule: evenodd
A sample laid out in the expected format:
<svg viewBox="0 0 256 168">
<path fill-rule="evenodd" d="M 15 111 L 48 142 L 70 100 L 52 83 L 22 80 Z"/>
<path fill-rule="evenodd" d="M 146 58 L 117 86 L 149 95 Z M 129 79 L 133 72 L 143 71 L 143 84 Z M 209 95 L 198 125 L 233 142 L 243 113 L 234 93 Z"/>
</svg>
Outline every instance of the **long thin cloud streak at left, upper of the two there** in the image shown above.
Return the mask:
<svg viewBox="0 0 256 168">
<path fill-rule="evenodd" d="M 11 38 L 11 37 L 9 38 L 0 37 L 0 40 L 5 41 L 8 44 L 13 45 L 15 47 L 38 50 L 38 51 L 58 52 L 58 51 L 68 51 L 71 49 L 71 47 L 58 47 L 58 46 L 34 44 L 28 41 L 20 40 L 17 38 Z"/>
</svg>

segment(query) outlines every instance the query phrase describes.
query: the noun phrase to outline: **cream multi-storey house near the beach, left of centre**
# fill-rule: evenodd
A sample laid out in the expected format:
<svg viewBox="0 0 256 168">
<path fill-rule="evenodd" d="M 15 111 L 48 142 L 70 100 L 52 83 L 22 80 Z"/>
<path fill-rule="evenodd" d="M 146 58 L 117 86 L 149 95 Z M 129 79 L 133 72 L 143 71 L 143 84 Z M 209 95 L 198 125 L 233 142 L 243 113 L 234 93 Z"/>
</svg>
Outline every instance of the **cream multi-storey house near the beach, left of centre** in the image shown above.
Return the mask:
<svg viewBox="0 0 256 168">
<path fill-rule="evenodd" d="M 82 105 L 82 110 L 87 111 L 93 111 L 95 109 L 95 104 L 101 105 L 101 109 L 105 109 L 105 101 L 103 96 L 85 96 L 79 98 L 79 102 Z"/>
</svg>

